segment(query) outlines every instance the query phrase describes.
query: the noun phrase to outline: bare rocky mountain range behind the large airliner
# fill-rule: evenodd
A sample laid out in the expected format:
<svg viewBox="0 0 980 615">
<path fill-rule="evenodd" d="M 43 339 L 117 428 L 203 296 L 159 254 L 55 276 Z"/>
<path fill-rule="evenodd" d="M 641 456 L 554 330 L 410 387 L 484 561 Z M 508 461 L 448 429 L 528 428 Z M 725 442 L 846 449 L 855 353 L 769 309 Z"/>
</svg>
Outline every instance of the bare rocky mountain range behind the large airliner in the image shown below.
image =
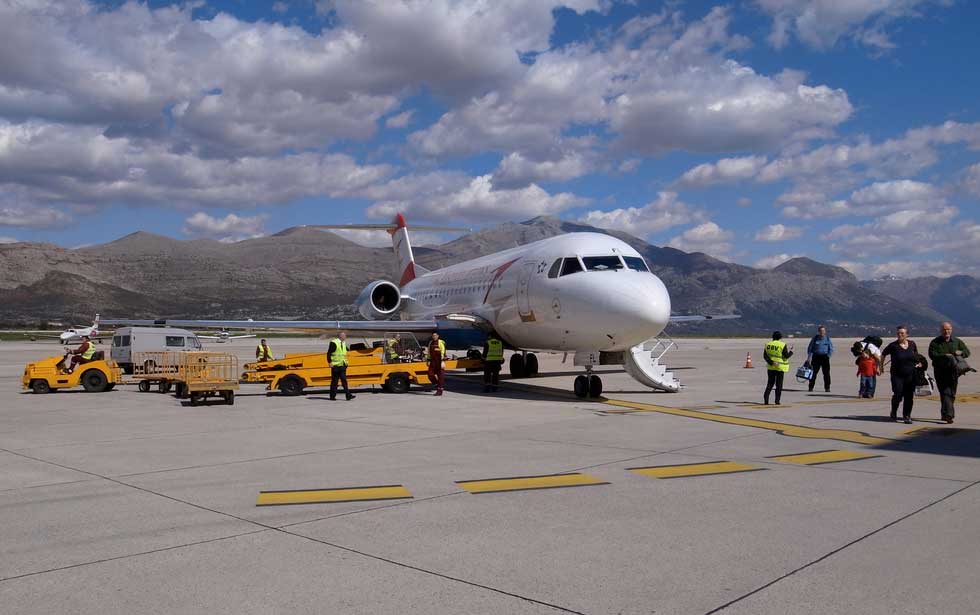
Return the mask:
<svg viewBox="0 0 980 615">
<path fill-rule="evenodd" d="M 703 253 L 658 247 L 619 231 L 538 217 L 416 248 L 429 269 L 563 233 L 608 233 L 633 246 L 667 285 L 677 314 L 730 314 L 738 320 L 672 325 L 669 332 L 888 334 L 899 323 L 926 335 L 951 319 L 958 333 L 980 332 L 980 280 L 971 276 L 859 281 L 808 258 L 755 269 Z M 0 245 L 0 320 L 84 323 L 106 317 L 355 318 L 351 302 L 372 280 L 397 279 L 390 248 L 294 227 L 234 243 L 177 240 L 138 232 L 102 245 L 67 249 Z"/>
</svg>

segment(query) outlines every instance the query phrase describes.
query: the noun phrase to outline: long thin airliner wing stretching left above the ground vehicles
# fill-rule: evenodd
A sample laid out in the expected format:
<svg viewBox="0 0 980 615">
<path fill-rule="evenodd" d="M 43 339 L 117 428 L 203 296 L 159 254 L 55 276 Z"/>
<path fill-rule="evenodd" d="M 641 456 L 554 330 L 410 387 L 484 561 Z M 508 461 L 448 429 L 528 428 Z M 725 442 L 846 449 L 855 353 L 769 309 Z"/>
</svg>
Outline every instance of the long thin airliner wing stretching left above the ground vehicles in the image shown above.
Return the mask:
<svg viewBox="0 0 980 615">
<path fill-rule="evenodd" d="M 318 333 L 323 331 L 432 333 L 439 329 L 435 320 L 181 320 L 175 318 L 128 320 L 116 318 L 104 319 L 102 324 L 133 327 L 180 327 L 182 329 L 280 329 Z"/>
</svg>

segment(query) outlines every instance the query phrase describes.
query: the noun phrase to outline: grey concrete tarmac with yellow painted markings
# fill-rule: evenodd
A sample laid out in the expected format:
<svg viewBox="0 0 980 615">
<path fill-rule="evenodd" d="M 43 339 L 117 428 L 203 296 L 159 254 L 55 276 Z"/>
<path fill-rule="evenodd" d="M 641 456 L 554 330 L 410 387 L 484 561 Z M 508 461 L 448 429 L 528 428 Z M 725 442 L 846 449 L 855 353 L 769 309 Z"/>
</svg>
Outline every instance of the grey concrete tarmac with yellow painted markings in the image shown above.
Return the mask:
<svg viewBox="0 0 980 615">
<path fill-rule="evenodd" d="M 23 392 L 24 363 L 59 347 L 2 342 L 0 612 L 976 612 L 980 375 L 955 424 L 928 398 L 893 423 L 887 376 L 858 399 L 842 348 L 830 393 L 791 371 L 763 406 L 764 344 L 679 340 L 677 394 L 610 367 L 580 400 L 579 370 L 543 355 L 492 395 L 456 374 L 441 398 L 242 385 L 191 407 Z M 384 489 L 337 491 L 355 487 Z M 348 501 L 256 506 L 264 491 Z"/>
</svg>

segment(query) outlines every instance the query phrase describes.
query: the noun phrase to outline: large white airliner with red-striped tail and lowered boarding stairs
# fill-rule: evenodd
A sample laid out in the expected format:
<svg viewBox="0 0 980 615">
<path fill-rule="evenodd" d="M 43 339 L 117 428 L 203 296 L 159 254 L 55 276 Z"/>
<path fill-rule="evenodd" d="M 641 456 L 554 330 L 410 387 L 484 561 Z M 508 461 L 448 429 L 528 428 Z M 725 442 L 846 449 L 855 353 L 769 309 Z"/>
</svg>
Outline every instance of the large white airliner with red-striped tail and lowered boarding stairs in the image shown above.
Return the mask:
<svg viewBox="0 0 980 615">
<path fill-rule="evenodd" d="M 623 365 L 640 383 L 676 392 L 680 383 L 660 360 L 671 343 L 654 342 L 670 322 L 738 318 L 671 316 L 670 293 L 626 242 L 602 233 L 569 233 L 437 271 L 415 262 L 402 214 L 390 224 L 309 225 L 320 230 L 374 229 L 391 234 L 401 275 L 376 280 L 355 301 L 363 321 L 105 320 L 113 324 L 263 328 L 359 333 L 439 333 L 447 348 L 481 346 L 495 332 L 517 352 L 515 378 L 538 373 L 536 352 L 573 355 L 584 368 L 578 397 L 599 397 L 597 365 Z M 414 227 L 417 230 L 459 230 Z M 401 320 L 390 320 L 398 316 Z M 470 352 L 473 352 L 470 350 Z M 659 354 L 658 354 L 659 353 Z"/>
</svg>

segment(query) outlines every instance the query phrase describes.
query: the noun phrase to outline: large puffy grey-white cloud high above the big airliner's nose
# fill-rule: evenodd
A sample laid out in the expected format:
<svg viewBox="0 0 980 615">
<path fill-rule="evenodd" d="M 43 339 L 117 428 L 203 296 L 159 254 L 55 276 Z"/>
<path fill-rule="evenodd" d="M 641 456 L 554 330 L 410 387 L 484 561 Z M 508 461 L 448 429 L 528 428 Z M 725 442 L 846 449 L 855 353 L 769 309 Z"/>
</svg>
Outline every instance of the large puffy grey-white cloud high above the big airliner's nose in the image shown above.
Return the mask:
<svg viewBox="0 0 980 615">
<path fill-rule="evenodd" d="M 747 41 L 715 8 L 641 29 L 627 24 L 608 48 L 572 45 L 537 56 L 525 74 L 453 109 L 411 136 L 423 154 L 540 152 L 571 125 L 604 125 L 621 152 L 754 150 L 826 135 L 851 113 L 842 90 L 769 77 L 729 59 Z M 632 22 L 631 22 L 632 23 Z"/>
</svg>

